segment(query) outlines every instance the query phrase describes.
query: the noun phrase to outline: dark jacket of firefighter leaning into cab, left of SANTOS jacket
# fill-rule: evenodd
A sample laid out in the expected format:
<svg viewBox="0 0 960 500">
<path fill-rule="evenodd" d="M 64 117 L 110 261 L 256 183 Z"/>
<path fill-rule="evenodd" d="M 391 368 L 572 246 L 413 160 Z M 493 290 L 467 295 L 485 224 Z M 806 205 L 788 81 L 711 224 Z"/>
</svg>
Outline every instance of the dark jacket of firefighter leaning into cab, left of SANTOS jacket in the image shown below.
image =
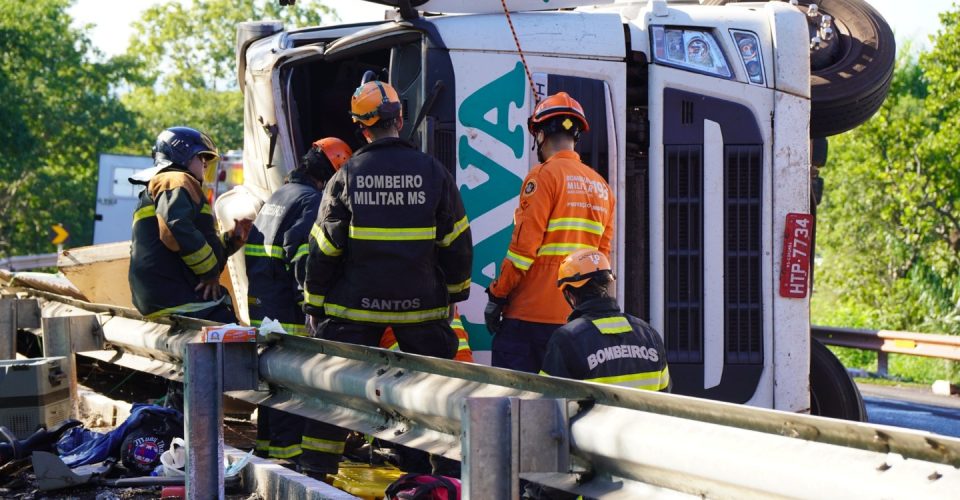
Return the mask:
<svg viewBox="0 0 960 500">
<path fill-rule="evenodd" d="M 303 281 L 307 238 L 317 220 L 322 193 L 300 170 L 290 173 L 260 209 L 243 247 L 249 288 L 250 324 L 264 317 L 279 321 L 287 333 L 306 335 Z"/>
</svg>

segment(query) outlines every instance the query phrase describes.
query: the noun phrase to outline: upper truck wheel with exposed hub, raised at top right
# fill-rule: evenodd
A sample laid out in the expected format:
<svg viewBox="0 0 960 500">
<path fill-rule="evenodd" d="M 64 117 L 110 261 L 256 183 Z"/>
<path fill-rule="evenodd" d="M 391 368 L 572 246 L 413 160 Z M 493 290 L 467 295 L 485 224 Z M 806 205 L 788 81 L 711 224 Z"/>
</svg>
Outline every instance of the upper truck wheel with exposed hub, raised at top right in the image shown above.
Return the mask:
<svg viewBox="0 0 960 500">
<path fill-rule="evenodd" d="M 701 0 L 723 5 L 739 0 Z M 887 97 L 896 56 L 890 25 L 864 0 L 799 0 L 811 38 L 824 15 L 832 17 L 834 36 L 810 52 L 810 137 L 846 132 L 867 121 Z"/>
</svg>

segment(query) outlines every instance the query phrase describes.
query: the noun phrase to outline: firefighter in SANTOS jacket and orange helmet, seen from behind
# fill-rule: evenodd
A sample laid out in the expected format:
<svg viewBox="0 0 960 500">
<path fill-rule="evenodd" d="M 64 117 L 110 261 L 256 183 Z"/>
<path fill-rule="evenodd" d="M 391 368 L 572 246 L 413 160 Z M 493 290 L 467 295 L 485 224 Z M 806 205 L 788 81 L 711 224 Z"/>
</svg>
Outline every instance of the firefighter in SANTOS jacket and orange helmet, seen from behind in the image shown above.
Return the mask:
<svg viewBox="0 0 960 500">
<path fill-rule="evenodd" d="M 392 327 L 404 352 L 451 359 L 459 341 L 450 305 L 470 293 L 470 225 L 450 172 L 400 139 L 401 111 L 392 86 L 366 77 L 351 98 L 368 144 L 324 192 L 304 311 L 323 339 L 376 347 Z M 318 437 L 333 443 L 346 434 Z"/>
</svg>

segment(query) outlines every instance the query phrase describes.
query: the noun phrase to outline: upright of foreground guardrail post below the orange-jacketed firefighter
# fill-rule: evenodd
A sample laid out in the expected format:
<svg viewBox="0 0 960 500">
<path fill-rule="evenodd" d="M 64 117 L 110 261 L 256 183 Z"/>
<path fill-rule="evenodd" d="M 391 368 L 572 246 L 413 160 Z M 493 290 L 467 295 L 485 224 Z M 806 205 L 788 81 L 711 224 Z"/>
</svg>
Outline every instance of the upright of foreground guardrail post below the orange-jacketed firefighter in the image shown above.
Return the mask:
<svg viewBox="0 0 960 500">
<path fill-rule="evenodd" d="M 464 500 L 520 498 L 519 412 L 510 398 L 467 398 L 461 434 Z"/>
</svg>

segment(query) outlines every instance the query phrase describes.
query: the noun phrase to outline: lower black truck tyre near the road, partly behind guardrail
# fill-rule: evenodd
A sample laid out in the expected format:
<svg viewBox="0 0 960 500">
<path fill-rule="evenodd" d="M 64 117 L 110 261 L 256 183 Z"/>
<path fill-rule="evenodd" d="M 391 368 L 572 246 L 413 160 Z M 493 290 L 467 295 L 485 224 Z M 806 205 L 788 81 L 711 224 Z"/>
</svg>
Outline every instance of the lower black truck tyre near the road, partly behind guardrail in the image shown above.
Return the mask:
<svg viewBox="0 0 960 500">
<path fill-rule="evenodd" d="M 840 360 L 814 339 L 810 339 L 810 413 L 867 421 L 867 409 L 857 385 Z"/>
</svg>

